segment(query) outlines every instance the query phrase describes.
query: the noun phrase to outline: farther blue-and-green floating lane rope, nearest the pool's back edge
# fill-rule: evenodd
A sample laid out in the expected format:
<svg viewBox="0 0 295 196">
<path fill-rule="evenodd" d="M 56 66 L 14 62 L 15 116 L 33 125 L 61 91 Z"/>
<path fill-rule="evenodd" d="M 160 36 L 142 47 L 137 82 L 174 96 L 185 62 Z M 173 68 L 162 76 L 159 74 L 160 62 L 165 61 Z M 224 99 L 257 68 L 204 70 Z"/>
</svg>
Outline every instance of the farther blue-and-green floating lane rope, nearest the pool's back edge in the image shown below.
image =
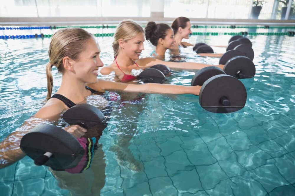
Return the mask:
<svg viewBox="0 0 295 196">
<path fill-rule="evenodd" d="M 114 29 L 117 26 L 23 26 L 23 27 L 0 27 L 0 30 L 30 30 L 30 29 L 63 29 L 68 27 L 79 27 L 82 29 Z M 143 26 L 144 27 L 144 26 Z M 222 28 L 222 29 L 235 29 L 235 28 L 248 28 L 248 29 L 295 29 L 295 26 L 199 26 L 192 25 L 193 29 L 197 28 Z"/>
</svg>

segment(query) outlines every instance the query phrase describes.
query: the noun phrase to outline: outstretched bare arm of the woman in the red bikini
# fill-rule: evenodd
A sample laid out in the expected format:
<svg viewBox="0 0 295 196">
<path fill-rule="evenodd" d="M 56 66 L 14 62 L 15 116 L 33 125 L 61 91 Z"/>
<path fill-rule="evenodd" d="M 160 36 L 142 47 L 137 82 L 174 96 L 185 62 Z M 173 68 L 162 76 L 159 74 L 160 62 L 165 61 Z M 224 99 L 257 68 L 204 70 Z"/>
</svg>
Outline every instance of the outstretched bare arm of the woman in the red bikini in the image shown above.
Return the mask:
<svg viewBox="0 0 295 196">
<path fill-rule="evenodd" d="M 173 69 L 196 69 L 196 70 L 200 70 L 204 67 L 208 67 L 208 66 L 217 66 L 221 69 L 223 69 L 224 65 L 208 65 L 208 64 L 204 64 L 204 63 L 193 63 L 193 62 L 171 62 L 171 61 L 161 61 L 159 59 L 156 58 L 141 58 L 139 60 L 136 61 L 138 65 L 140 66 L 144 66 L 144 67 L 151 67 L 153 65 L 156 64 L 163 64 L 169 68 L 173 68 Z"/>
</svg>

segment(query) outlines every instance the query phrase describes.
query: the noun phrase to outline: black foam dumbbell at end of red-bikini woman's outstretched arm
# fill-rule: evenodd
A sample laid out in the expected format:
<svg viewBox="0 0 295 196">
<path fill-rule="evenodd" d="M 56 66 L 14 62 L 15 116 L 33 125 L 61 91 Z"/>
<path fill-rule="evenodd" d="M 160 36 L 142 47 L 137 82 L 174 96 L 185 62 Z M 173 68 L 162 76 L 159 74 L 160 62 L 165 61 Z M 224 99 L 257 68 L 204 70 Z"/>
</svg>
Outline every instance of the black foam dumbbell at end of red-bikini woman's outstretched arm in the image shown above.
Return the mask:
<svg viewBox="0 0 295 196">
<path fill-rule="evenodd" d="M 247 55 L 240 50 L 229 50 L 219 60 L 224 65 L 223 71 L 239 79 L 252 78 L 255 76 L 255 65 Z"/>
</svg>

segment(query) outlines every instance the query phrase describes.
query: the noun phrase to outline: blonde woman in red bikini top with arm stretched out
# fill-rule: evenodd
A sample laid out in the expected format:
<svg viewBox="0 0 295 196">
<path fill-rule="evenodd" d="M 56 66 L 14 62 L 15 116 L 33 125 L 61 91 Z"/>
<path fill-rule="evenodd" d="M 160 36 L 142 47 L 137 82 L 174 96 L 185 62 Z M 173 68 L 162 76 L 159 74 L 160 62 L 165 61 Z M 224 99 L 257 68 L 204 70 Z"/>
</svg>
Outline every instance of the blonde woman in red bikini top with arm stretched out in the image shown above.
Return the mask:
<svg viewBox="0 0 295 196">
<path fill-rule="evenodd" d="M 203 63 L 161 61 L 151 57 L 139 58 L 140 53 L 144 50 L 144 41 L 145 31 L 139 24 L 132 20 L 120 22 L 114 34 L 114 62 L 101 68 L 100 73 L 109 75 L 114 71 L 118 81 L 126 83 L 136 79 L 131 73 L 133 69 L 145 69 L 156 64 L 163 64 L 173 69 L 193 70 L 214 66 Z M 224 65 L 217 65 L 217 67 L 223 69 Z"/>
</svg>

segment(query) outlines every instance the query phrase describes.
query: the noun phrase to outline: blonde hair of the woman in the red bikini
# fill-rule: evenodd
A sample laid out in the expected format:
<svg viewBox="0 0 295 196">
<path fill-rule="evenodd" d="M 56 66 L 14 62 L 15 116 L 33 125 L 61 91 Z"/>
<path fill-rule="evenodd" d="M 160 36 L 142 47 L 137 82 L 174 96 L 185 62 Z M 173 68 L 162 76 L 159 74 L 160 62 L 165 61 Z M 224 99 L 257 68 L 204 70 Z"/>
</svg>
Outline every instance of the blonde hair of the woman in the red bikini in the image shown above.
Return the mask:
<svg viewBox="0 0 295 196">
<path fill-rule="evenodd" d="M 132 38 L 135 38 L 139 33 L 145 33 L 145 31 L 137 22 L 132 20 L 123 20 L 122 22 L 120 22 L 114 34 L 114 42 L 113 42 L 114 57 L 116 57 L 119 52 L 119 43 L 118 43 L 119 39 L 128 41 Z"/>
</svg>

